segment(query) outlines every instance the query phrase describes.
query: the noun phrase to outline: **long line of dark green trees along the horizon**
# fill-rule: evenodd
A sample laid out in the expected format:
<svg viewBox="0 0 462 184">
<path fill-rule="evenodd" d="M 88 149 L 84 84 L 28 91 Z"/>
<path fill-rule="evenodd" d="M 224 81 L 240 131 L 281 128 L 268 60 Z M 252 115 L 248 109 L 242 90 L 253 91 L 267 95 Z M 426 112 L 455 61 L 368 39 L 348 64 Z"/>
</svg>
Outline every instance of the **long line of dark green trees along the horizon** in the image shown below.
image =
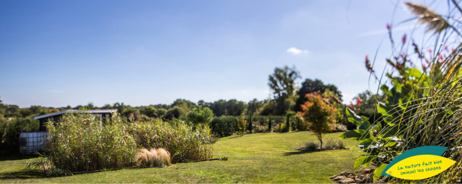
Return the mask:
<svg viewBox="0 0 462 184">
<path fill-rule="evenodd" d="M 44 107 L 32 105 L 28 108 L 20 108 L 14 104 L 4 104 L 0 100 L 0 118 L 12 117 L 33 117 L 37 115 L 58 112 L 66 109 L 118 109 L 123 116 L 133 120 L 143 120 L 149 118 L 173 119 L 186 116 L 191 110 L 198 106 L 204 109 L 210 109 L 213 116 L 240 116 L 240 115 L 286 115 L 301 111 L 301 105 L 307 100 L 306 94 L 318 92 L 323 95 L 329 95 L 335 98 L 337 103 L 335 108 L 344 109 L 345 105 L 341 103 L 342 95 L 338 88 L 333 84 L 325 84 L 319 79 L 306 78 L 299 85 L 296 80 L 301 78 L 299 71 L 295 67 L 276 67 L 274 72 L 268 77 L 268 85 L 272 91 L 272 97 L 258 100 L 256 98 L 246 102 L 237 99 L 219 99 L 213 102 L 199 100 L 197 103 L 187 99 L 176 99 L 171 104 L 152 104 L 146 106 L 131 106 L 123 102 L 95 106 L 93 103 L 77 106 L 64 107 Z M 361 106 L 364 114 L 373 112 L 373 99 L 377 96 L 366 91 L 357 96 L 357 99 L 363 99 L 366 105 Z M 364 100 L 365 99 L 365 100 Z M 370 101 L 368 103 L 368 100 Z M 372 101 L 371 101 L 372 100 Z M 361 113 L 360 111 L 360 113 Z M 344 110 L 338 110 L 337 122 L 348 123 Z"/>
</svg>

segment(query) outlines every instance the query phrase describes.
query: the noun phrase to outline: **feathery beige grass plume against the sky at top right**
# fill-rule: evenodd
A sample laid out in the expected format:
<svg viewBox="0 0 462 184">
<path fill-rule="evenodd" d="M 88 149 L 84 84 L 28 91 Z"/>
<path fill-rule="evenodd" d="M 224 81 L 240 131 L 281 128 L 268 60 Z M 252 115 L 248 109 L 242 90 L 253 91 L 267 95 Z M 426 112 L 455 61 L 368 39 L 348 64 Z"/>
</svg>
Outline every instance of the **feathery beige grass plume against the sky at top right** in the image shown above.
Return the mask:
<svg viewBox="0 0 462 184">
<path fill-rule="evenodd" d="M 420 23 L 425 23 L 428 25 L 427 31 L 435 30 L 435 33 L 439 33 L 449 27 L 449 23 L 444 20 L 441 15 L 435 13 L 430 8 L 412 2 L 405 2 L 404 4 L 406 4 L 412 13 L 417 15 Z"/>
</svg>

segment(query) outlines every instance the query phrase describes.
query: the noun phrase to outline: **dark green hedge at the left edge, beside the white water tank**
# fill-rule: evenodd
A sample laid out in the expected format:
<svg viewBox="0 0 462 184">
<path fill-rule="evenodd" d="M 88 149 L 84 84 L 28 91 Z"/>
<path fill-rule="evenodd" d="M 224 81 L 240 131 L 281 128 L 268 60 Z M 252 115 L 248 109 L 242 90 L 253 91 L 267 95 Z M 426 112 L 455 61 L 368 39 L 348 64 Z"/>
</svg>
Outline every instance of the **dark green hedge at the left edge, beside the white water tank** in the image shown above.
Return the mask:
<svg viewBox="0 0 462 184">
<path fill-rule="evenodd" d="M 0 119 L 0 155 L 19 153 L 21 132 L 39 130 L 39 121 L 33 118 Z"/>
</svg>

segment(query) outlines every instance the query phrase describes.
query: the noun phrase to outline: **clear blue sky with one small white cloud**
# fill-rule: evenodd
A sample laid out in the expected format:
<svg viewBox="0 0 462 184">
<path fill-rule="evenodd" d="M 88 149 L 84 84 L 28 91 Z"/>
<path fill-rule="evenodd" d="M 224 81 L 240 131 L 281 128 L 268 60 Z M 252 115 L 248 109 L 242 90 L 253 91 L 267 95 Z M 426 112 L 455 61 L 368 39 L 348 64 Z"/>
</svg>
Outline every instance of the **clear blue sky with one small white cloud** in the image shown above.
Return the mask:
<svg viewBox="0 0 462 184">
<path fill-rule="evenodd" d="M 335 84 L 348 103 L 377 89 L 365 55 L 383 40 L 382 68 L 385 25 L 409 17 L 395 0 L 2 0 L 0 99 L 20 107 L 262 100 L 274 68 L 294 65 L 302 79 Z M 397 25 L 397 39 L 411 25 Z"/>
</svg>

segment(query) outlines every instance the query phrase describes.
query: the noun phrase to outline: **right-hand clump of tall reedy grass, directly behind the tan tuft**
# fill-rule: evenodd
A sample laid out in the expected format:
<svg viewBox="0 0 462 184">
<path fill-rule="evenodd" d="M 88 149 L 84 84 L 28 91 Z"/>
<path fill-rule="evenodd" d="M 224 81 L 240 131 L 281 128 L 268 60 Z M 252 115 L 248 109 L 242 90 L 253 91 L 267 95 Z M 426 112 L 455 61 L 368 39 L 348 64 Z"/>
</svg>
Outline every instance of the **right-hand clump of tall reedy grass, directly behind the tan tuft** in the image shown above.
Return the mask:
<svg viewBox="0 0 462 184">
<path fill-rule="evenodd" d="M 141 147 L 163 147 L 172 155 L 172 162 L 185 162 L 212 157 L 213 139 L 206 125 L 188 125 L 183 121 L 136 122 L 130 124 L 132 134 Z"/>
</svg>

